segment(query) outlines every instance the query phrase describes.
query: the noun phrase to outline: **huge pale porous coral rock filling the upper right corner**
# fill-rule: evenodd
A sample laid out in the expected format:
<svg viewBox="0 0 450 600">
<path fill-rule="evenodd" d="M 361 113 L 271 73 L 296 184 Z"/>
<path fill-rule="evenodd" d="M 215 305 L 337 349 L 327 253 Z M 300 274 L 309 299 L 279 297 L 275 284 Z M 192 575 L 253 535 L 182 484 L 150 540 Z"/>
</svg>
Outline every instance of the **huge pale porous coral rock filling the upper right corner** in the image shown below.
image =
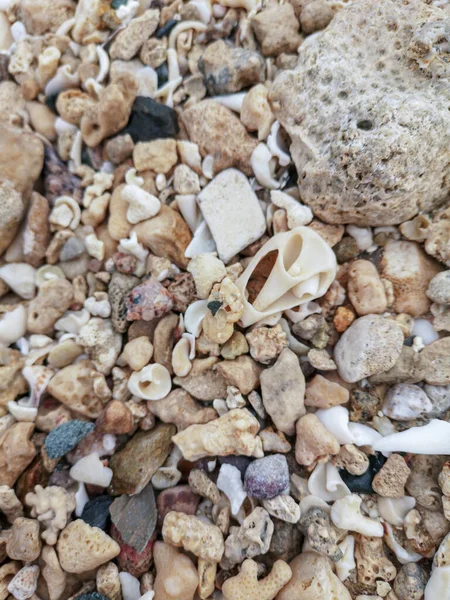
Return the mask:
<svg viewBox="0 0 450 600">
<path fill-rule="evenodd" d="M 359 0 L 275 81 L 302 200 L 324 221 L 401 223 L 447 196 L 449 27 L 425 0 Z"/>
</svg>

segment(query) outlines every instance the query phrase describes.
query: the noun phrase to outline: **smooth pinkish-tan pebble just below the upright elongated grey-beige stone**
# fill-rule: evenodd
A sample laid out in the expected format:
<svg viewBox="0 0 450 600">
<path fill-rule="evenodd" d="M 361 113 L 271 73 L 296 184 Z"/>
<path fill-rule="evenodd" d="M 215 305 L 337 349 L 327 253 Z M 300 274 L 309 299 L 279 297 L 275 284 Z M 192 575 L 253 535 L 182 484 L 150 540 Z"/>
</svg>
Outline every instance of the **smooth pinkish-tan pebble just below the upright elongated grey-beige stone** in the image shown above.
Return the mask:
<svg viewBox="0 0 450 600">
<path fill-rule="evenodd" d="M 295 460 L 300 465 L 310 466 L 319 458 L 339 452 L 339 442 L 316 415 L 308 414 L 299 419 L 296 434 Z"/>
</svg>

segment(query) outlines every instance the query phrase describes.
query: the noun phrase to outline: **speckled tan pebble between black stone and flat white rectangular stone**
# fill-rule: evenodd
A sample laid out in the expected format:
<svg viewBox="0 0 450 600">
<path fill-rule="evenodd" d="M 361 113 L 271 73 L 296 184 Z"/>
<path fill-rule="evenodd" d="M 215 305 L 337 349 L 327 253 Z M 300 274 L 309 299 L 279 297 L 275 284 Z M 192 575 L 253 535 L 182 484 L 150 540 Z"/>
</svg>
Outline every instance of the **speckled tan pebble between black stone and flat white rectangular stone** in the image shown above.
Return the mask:
<svg viewBox="0 0 450 600">
<path fill-rule="evenodd" d="M 250 158 L 258 141 L 231 110 L 214 100 L 202 100 L 185 109 L 181 118 L 202 157 L 214 158 L 214 173 L 236 167 L 245 175 L 252 175 Z"/>
</svg>

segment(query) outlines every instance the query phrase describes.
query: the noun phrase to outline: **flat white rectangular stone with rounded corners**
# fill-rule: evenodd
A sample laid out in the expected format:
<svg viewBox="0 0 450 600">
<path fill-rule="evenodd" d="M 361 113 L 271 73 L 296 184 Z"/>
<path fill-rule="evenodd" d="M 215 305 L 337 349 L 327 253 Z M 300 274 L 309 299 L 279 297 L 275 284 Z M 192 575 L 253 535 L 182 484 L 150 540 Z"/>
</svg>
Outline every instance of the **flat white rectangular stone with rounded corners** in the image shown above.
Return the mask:
<svg viewBox="0 0 450 600">
<path fill-rule="evenodd" d="M 266 230 L 259 200 L 237 169 L 219 173 L 200 192 L 198 203 L 225 264 Z"/>
</svg>

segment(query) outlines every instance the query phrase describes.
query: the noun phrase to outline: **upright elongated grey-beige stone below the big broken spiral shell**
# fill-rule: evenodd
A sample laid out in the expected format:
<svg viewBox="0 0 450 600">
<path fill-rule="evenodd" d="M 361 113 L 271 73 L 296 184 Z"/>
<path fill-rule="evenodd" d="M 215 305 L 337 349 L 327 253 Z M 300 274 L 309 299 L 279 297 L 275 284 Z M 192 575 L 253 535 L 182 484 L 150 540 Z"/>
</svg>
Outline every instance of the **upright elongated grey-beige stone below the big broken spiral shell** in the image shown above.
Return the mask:
<svg viewBox="0 0 450 600">
<path fill-rule="evenodd" d="M 261 393 L 264 408 L 277 429 L 292 435 L 295 422 L 306 412 L 305 377 L 292 350 L 285 348 L 273 367 L 261 373 Z"/>
</svg>

